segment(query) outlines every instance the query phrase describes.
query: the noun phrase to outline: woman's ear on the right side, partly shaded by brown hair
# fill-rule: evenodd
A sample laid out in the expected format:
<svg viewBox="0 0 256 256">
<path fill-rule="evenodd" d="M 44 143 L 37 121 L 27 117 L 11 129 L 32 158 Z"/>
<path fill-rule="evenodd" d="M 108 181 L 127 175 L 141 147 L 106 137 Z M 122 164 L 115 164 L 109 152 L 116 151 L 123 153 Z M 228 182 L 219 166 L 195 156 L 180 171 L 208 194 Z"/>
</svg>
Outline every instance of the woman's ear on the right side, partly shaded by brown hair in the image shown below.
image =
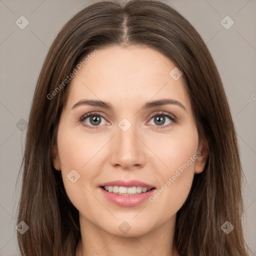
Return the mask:
<svg viewBox="0 0 256 256">
<path fill-rule="evenodd" d="M 198 174 L 203 171 L 209 155 L 208 144 L 205 138 L 199 140 L 196 155 L 197 159 L 195 160 L 194 173 Z"/>
</svg>

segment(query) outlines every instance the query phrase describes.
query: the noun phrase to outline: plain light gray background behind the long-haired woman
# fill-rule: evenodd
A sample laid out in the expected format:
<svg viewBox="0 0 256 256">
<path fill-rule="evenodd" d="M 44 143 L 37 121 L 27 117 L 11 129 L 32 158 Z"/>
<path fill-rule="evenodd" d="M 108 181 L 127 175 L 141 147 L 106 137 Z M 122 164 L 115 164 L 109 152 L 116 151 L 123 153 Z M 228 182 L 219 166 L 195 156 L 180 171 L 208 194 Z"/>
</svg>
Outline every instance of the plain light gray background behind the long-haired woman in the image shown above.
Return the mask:
<svg viewBox="0 0 256 256">
<path fill-rule="evenodd" d="M 0 255 L 20 255 L 16 241 L 15 182 L 24 150 L 36 80 L 48 48 L 63 24 L 90 0 L 0 0 Z M 199 32 L 219 70 L 232 111 L 246 182 L 246 240 L 256 255 L 256 1 L 163 0 Z M 21 16 L 29 24 L 20 29 Z M 220 23 L 226 16 L 234 24 Z M 225 21 L 224 21 L 225 22 Z M 230 24 L 230 21 L 227 21 Z M 21 120 L 20 120 L 21 119 Z M 21 124 L 21 125 L 20 125 Z M 35 170 L 36 171 L 36 170 Z M 227 184 L 228 185 L 228 184 Z M 234 227 L 235 228 L 235 227 Z M 254 243 L 253 243 L 254 240 Z"/>
</svg>

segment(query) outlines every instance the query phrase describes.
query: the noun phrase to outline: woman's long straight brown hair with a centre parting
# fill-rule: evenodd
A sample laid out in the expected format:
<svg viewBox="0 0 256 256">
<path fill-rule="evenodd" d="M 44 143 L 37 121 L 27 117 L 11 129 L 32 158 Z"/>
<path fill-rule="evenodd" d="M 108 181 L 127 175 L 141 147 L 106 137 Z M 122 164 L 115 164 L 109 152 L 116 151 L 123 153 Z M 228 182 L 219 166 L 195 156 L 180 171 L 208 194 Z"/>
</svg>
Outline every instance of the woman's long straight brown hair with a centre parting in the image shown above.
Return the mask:
<svg viewBox="0 0 256 256">
<path fill-rule="evenodd" d="M 195 174 L 177 212 L 174 242 L 178 252 L 248 255 L 241 220 L 243 173 L 217 68 L 194 27 L 176 10 L 154 0 L 91 4 L 74 15 L 53 41 L 36 84 L 20 167 L 17 223 L 29 226 L 24 234 L 17 232 L 22 255 L 75 255 L 80 239 L 78 210 L 67 197 L 60 171 L 53 167 L 52 148 L 68 92 L 66 76 L 83 56 L 114 44 L 147 45 L 175 63 L 186 82 L 198 134 L 208 144 L 204 171 Z M 225 221 L 234 226 L 229 234 L 221 229 Z"/>
</svg>

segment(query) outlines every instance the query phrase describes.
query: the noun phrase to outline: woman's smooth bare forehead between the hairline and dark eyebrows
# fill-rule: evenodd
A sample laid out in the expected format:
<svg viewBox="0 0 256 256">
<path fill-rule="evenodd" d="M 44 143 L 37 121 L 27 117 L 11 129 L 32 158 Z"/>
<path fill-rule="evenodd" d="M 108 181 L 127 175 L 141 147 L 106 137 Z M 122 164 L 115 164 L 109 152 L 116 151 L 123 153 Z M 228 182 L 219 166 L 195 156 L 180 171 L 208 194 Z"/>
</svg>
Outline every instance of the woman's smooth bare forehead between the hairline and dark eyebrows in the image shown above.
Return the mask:
<svg viewBox="0 0 256 256">
<path fill-rule="evenodd" d="M 174 80 L 169 72 L 175 64 L 150 47 L 114 45 L 99 48 L 87 58 L 68 86 L 67 105 L 82 98 L 113 102 L 147 101 L 171 97 L 186 105 L 182 76 Z"/>
</svg>

